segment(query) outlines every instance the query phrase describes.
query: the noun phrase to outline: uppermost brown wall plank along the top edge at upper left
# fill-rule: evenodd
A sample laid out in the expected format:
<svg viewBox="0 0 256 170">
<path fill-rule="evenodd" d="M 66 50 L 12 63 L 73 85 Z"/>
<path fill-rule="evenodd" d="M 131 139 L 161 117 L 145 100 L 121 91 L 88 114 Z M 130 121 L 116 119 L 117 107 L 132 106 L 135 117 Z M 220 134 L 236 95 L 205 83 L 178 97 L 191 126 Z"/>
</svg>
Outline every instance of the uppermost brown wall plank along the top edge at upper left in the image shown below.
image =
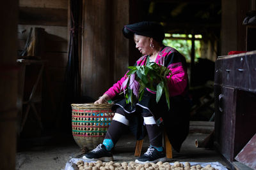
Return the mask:
<svg viewBox="0 0 256 170">
<path fill-rule="evenodd" d="M 68 0 L 19 0 L 21 7 L 34 7 L 34 8 L 68 8 Z"/>
</svg>

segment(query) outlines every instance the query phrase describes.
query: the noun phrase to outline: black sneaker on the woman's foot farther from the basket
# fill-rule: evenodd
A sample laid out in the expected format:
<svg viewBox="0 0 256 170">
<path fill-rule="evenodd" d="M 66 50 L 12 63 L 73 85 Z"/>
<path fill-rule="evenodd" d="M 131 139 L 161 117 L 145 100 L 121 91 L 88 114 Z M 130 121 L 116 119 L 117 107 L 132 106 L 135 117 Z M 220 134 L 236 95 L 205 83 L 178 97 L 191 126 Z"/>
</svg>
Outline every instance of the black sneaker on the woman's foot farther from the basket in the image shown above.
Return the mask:
<svg viewBox="0 0 256 170">
<path fill-rule="evenodd" d="M 149 146 L 147 152 L 145 152 L 141 157 L 135 160 L 136 163 L 146 163 L 146 162 L 165 162 L 166 157 L 164 152 L 159 152 L 156 148 Z"/>
</svg>

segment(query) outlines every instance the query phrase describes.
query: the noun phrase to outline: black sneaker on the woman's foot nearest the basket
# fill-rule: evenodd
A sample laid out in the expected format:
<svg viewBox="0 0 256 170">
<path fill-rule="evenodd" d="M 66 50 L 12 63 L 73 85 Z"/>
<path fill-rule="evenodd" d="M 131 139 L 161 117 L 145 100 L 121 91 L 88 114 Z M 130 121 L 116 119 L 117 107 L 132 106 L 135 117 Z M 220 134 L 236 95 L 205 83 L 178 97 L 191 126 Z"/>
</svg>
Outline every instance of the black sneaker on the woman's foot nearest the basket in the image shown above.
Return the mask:
<svg viewBox="0 0 256 170">
<path fill-rule="evenodd" d="M 113 155 L 111 152 L 106 150 L 106 146 L 103 144 L 98 145 L 94 150 L 86 153 L 83 156 L 83 159 L 86 160 L 102 160 L 105 162 L 109 162 L 113 160 Z"/>
</svg>

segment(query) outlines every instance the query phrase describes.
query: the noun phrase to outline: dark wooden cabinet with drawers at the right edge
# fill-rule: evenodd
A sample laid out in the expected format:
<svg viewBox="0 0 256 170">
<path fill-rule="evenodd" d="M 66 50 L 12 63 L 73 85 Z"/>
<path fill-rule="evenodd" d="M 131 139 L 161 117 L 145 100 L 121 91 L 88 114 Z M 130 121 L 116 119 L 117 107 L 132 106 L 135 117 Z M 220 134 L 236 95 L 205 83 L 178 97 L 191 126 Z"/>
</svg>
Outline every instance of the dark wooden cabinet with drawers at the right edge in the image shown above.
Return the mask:
<svg viewBox="0 0 256 170">
<path fill-rule="evenodd" d="M 214 145 L 232 163 L 256 132 L 256 51 L 218 57 L 214 96 Z"/>
</svg>

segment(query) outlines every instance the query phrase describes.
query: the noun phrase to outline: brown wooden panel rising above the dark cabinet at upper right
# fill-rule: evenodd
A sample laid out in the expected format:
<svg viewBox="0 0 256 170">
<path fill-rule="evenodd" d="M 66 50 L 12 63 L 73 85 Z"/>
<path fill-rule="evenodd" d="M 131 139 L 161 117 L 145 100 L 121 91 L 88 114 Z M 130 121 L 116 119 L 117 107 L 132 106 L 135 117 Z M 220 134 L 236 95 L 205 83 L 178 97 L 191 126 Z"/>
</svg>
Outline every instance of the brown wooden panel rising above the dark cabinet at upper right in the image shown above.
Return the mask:
<svg viewBox="0 0 256 170">
<path fill-rule="evenodd" d="M 242 24 L 252 1 L 221 1 L 221 55 L 246 50 L 246 26 Z"/>
</svg>

